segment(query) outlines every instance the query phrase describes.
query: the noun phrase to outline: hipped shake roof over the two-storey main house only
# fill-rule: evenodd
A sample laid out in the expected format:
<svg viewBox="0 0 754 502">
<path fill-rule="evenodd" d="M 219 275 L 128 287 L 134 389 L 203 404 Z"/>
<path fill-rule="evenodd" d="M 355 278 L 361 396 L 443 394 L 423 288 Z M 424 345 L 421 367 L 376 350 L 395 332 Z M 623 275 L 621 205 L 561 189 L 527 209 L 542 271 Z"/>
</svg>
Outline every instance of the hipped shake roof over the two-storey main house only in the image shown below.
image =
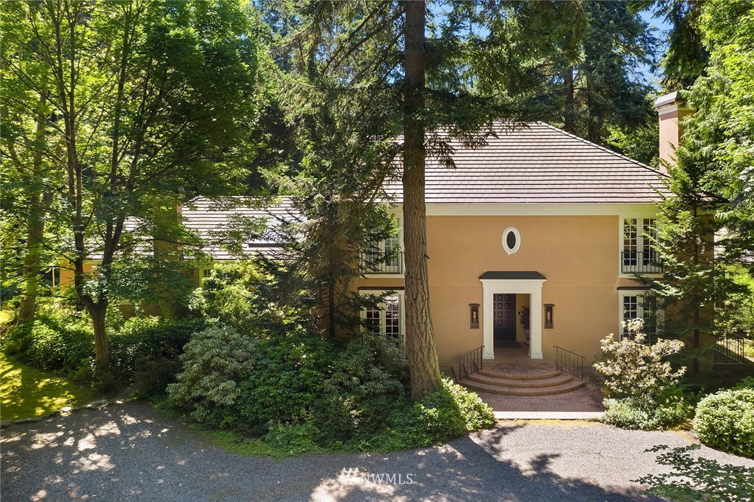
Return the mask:
<svg viewBox="0 0 754 502">
<path fill-rule="evenodd" d="M 427 159 L 427 204 L 649 204 L 667 175 L 557 127 L 535 122 L 480 148 L 451 141 L 455 169 Z M 400 181 L 388 191 L 402 202 Z"/>
</svg>

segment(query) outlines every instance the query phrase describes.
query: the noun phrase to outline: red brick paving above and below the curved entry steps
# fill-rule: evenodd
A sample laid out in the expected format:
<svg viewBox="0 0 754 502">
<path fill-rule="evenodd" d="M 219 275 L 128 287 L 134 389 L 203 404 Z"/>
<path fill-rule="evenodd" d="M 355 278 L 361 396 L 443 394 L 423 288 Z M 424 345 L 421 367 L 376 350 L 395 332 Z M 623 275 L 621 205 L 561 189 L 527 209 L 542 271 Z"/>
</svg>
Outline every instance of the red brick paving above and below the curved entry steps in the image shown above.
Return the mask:
<svg viewBox="0 0 754 502">
<path fill-rule="evenodd" d="M 485 360 L 483 365 L 484 369 L 516 375 L 556 368 L 554 361 L 529 359 L 527 346 L 495 349 L 495 359 Z M 585 368 L 584 380 L 587 381 L 584 387 L 552 396 L 504 396 L 486 392 L 478 394 L 495 412 L 604 412 L 599 375 L 593 369 Z"/>
</svg>

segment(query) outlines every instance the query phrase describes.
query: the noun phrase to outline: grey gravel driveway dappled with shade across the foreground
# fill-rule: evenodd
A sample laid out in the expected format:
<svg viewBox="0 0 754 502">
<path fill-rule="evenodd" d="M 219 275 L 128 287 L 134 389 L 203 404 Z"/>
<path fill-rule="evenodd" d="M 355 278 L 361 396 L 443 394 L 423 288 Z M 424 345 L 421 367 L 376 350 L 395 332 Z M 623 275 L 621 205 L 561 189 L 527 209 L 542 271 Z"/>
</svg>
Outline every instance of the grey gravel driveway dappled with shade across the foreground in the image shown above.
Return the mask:
<svg viewBox="0 0 754 502">
<path fill-rule="evenodd" d="M 641 487 L 630 480 L 661 470 L 645 448 L 688 442 L 586 422 L 508 421 L 434 448 L 274 461 L 228 453 L 146 403 L 127 403 L 3 430 L 0 490 L 8 502 L 636 500 Z M 754 467 L 709 448 L 702 455 Z"/>
</svg>

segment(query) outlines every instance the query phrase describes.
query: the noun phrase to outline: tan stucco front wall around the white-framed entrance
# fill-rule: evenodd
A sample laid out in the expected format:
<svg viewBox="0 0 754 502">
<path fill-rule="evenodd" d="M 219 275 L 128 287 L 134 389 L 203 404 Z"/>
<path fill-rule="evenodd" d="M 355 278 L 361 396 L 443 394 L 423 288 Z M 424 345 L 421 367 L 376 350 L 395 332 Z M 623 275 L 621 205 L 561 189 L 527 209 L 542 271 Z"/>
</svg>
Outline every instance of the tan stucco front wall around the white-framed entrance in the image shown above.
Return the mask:
<svg viewBox="0 0 754 502">
<path fill-rule="evenodd" d="M 544 275 L 542 303 L 554 304 L 553 329 L 542 329 L 544 357 L 554 357 L 553 345 L 559 345 L 590 363 L 599 354 L 599 340 L 618 331 L 618 286 L 636 286 L 619 274 L 620 225 L 617 215 L 428 216 L 431 312 L 440 364 L 451 365 L 483 344 L 483 323 L 470 328 L 469 304 L 480 304 L 483 319 L 479 277 L 486 271 Z M 521 235 L 520 249 L 511 255 L 502 246 L 508 227 Z M 403 286 L 403 280 L 369 278 L 358 286 Z M 517 295 L 516 311 L 522 305 L 529 305 L 529 295 Z M 525 341 L 520 324 L 516 339 Z"/>
</svg>

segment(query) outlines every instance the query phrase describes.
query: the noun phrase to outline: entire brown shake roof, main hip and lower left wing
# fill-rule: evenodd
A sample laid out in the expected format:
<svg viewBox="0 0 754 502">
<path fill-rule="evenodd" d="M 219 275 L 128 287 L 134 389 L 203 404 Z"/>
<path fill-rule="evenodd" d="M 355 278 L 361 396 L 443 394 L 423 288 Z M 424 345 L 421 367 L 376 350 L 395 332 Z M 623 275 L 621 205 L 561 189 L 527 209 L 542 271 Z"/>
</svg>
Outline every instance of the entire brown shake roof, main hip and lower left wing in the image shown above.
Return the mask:
<svg viewBox="0 0 754 502">
<path fill-rule="evenodd" d="M 450 142 L 455 169 L 427 159 L 427 204 L 651 204 L 661 198 L 656 190 L 666 193 L 660 181 L 666 174 L 548 124 L 510 131 L 498 123 L 493 130 L 496 136 L 480 148 Z M 403 202 L 400 180 L 385 189 L 395 204 Z M 236 258 L 221 245 L 231 222 L 265 220 L 267 231 L 248 238 L 243 253 L 280 256 L 277 223 L 297 219 L 290 197 L 266 208 L 228 208 L 197 197 L 182 216 L 186 226 L 207 239 L 204 250 L 218 260 Z"/>
</svg>

